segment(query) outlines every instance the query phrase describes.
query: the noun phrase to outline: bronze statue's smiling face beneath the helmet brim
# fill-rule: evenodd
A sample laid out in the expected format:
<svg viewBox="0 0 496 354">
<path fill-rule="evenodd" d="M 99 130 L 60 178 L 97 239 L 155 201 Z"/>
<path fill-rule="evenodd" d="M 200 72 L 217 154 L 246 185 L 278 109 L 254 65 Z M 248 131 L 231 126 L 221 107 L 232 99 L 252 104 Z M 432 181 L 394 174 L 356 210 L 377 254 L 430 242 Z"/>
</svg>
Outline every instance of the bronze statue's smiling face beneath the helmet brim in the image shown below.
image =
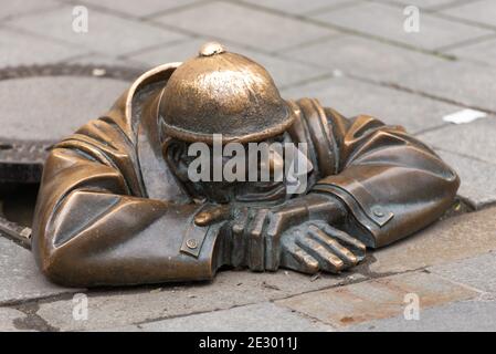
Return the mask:
<svg viewBox="0 0 496 354">
<path fill-rule="evenodd" d="M 287 134 L 283 134 L 263 143 L 271 145 L 273 143 L 284 143 L 288 139 L 289 136 Z M 265 159 L 265 163 L 262 158 L 253 160 L 249 158 L 247 144 L 244 144 L 244 158 L 236 160 L 242 162 L 244 164 L 244 168 L 241 168 L 238 173 L 236 167 L 233 167 L 233 156 L 235 157 L 234 154 L 228 154 L 224 149 L 222 149 L 222 153 L 225 153 L 229 156 L 224 156 L 224 154 L 219 156 L 219 150 L 215 152 L 213 147 L 209 146 L 208 152 L 210 155 L 207 156 L 207 158 L 203 156 L 203 162 L 205 162 L 208 166 L 204 164 L 203 166 L 200 166 L 201 164 L 199 164 L 199 158 L 201 154 L 199 154 L 198 150 L 196 154 L 192 154 L 190 149 L 191 145 L 191 143 L 173 140 L 169 143 L 166 154 L 169 166 L 176 176 L 183 183 L 189 194 L 194 198 L 207 199 L 215 202 L 239 201 L 255 204 L 277 202 L 283 201 L 286 198 L 284 180 L 275 180 L 273 174 L 274 169 L 271 168 L 276 164 L 282 164 L 282 157 L 278 155 L 270 154 L 268 162 Z M 267 164 L 270 165 L 268 169 Z M 194 168 L 197 168 L 196 173 L 199 173 L 201 168 L 203 173 L 192 174 L 191 169 L 194 171 Z M 242 173 L 243 169 L 244 174 Z M 228 176 L 228 173 L 232 170 L 236 171 L 234 180 L 232 176 Z M 255 176 L 257 176 L 255 179 L 253 178 L 254 170 L 256 170 Z M 267 176 L 267 170 L 268 180 L 262 181 L 261 176 L 263 174 Z M 196 175 L 197 177 L 192 178 L 194 177 L 192 175 Z M 197 180 L 199 175 L 207 178 Z"/>
</svg>

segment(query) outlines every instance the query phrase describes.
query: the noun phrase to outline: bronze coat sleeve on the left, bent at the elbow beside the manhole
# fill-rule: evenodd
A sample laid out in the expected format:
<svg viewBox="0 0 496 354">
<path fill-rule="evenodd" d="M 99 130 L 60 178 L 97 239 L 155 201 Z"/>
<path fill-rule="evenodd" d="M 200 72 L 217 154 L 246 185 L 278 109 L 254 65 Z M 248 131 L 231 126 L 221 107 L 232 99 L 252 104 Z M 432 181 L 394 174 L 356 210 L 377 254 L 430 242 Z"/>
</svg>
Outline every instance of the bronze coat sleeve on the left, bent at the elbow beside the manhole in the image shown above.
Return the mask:
<svg viewBox="0 0 496 354">
<path fill-rule="evenodd" d="M 32 251 L 43 273 L 71 287 L 213 277 L 217 231 L 191 222 L 198 205 L 148 199 L 135 144 L 96 119 L 54 146 L 44 167 Z M 181 252 L 184 236 L 196 249 Z"/>
</svg>

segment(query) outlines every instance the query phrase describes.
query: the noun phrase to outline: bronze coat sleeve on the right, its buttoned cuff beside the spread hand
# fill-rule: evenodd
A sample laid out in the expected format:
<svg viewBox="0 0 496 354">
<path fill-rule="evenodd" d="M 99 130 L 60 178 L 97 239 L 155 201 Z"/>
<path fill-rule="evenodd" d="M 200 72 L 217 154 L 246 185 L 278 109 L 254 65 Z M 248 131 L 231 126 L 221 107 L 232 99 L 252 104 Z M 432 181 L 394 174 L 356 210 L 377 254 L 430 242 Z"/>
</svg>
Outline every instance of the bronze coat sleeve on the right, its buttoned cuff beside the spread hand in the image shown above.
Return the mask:
<svg viewBox="0 0 496 354">
<path fill-rule="evenodd" d="M 331 108 L 324 113 L 335 149 L 327 170 L 334 171 L 313 190 L 348 207 L 348 232 L 381 247 L 424 228 L 452 206 L 457 175 L 403 127 L 367 115 L 348 119 Z"/>
</svg>

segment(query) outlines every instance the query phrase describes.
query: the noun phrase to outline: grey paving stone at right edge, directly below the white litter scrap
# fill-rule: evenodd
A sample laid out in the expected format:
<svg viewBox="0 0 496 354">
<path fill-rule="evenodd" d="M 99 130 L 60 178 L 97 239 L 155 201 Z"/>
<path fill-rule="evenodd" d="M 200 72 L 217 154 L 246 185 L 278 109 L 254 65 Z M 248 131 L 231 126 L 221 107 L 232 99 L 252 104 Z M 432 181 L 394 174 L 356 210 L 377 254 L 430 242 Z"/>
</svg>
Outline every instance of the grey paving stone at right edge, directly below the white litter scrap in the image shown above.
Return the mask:
<svg viewBox="0 0 496 354">
<path fill-rule="evenodd" d="M 450 124 L 420 138 L 442 150 L 496 164 L 496 117 L 487 116 L 467 124 Z"/>
</svg>

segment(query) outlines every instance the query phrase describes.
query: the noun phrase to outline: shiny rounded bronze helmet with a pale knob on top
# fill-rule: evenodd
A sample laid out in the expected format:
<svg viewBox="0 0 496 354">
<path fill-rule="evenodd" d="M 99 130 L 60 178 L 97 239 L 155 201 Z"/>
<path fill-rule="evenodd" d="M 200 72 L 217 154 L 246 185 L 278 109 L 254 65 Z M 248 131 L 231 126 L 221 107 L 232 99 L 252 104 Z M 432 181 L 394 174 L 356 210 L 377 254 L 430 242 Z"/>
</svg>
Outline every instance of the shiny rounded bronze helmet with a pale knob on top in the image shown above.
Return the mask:
<svg viewBox="0 0 496 354">
<path fill-rule="evenodd" d="M 159 114 L 165 133 L 186 142 L 258 142 L 276 136 L 294 114 L 267 71 L 252 60 L 230 53 L 215 42 L 170 76 Z"/>
</svg>

